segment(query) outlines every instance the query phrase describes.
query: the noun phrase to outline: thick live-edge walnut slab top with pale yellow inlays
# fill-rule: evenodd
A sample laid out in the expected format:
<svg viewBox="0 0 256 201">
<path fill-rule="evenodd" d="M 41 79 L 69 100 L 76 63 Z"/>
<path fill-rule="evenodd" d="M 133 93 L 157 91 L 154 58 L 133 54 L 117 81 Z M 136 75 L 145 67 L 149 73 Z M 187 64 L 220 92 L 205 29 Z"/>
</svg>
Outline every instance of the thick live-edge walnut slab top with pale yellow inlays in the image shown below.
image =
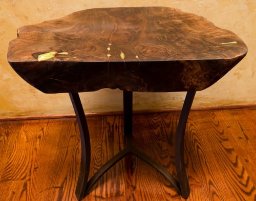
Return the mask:
<svg viewBox="0 0 256 201">
<path fill-rule="evenodd" d="M 46 93 L 95 91 L 103 87 L 152 92 L 203 90 L 247 53 L 245 43 L 233 32 L 214 26 L 204 17 L 166 7 L 82 10 L 21 27 L 17 34 L 9 43 L 8 61 L 21 77 Z M 77 69 L 77 63 L 86 67 Z M 117 68 L 123 68 L 123 73 L 117 75 Z M 71 73 L 65 76 L 65 72 Z M 72 78 L 72 74 L 83 74 L 83 78 Z M 120 74 L 129 74 L 130 80 L 121 76 L 119 79 L 125 83 L 117 84 L 113 79 Z M 92 81 L 96 75 L 97 86 L 85 85 L 86 79 Z M 157 79 L 178 76 L 175 85 L 182 86 L 170 83 L 161 86 L 162 89 L 154 88 L 157 82 L 130 86 L 131 75 L 141 82 L 150 81 L 153 75 Z M 108 76 L 108 82 L 100 84 Z M 79 85 L 77 80 L 83 84 Z"/>
</svg>

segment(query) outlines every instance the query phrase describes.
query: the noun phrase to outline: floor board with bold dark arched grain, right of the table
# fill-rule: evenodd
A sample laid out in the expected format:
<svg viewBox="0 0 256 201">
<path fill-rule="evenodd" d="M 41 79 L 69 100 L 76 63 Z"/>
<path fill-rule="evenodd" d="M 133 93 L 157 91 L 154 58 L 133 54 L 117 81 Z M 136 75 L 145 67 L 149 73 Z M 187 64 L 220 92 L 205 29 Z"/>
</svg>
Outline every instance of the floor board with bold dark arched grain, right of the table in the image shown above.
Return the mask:
<svg viewBox="0 0 256 201">
<path fill-rule="evenodd" d="M 222 111 L 210 111 L 205 113 L 205 119 L 208 128 L 208 140 L 211 142 L 209 146 L 215 155 L 214 161 L 221 161 L 217 163 L 219 166 L 219 172 L 222 172 L 220 176 L 223 176 L 223 181 L 228 185 L 229 192 L 232 193 L 233 200 L 253 200 L 255 198 L 255 189 L 253 181 L 249 174 L 246 172 L 241 158 L 234 150 L 234 144 L 231 143 L 232 136 L 227 130 L 227 124 L 221 117 Z M 210 164 L 210 162 L 208 162 Z M 220 182 L 218 182 L 220 184 Z M 227 191 L 226 191 L 227 193 Z M 232 200 L 231 199 L 231 200 Z"/>
</svg>

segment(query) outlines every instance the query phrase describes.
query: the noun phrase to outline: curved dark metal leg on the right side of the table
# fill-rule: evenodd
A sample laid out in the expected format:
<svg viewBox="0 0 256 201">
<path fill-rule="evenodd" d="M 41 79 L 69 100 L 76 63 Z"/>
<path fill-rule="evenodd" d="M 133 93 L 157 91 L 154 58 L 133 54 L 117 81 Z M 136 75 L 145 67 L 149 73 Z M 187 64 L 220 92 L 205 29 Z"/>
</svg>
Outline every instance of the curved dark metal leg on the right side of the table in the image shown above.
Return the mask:
<svg viewBox="0 0 256 201">
<path fill-rule="evenodd" d="M 180 114 L 180 120 L 178 123 L 176 131 L 176 147 L 175 147 L 175 160 L 176 160 L 176 170 L 178 176 L 178 182 L 180 184 L 181 196 L 187 198 L 190 189 L 187 181 L 185 164 L 184 164 L 184 137 L 185 137 L 185 128 L 187 123 L 187 118 L 191 105 L 193 103 L 196 92 L 187 92 L 182 111 Z"/>
</svg>

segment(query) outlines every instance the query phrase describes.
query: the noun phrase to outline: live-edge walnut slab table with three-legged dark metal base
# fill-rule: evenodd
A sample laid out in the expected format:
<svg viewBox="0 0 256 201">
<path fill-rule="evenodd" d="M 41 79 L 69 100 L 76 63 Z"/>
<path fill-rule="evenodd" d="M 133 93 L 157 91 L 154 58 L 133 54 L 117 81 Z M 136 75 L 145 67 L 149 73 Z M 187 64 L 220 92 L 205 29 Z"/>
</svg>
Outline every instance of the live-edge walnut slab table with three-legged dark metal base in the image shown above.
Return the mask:
<svg viewBox="0 0 256 201">
<path fill-rule="evenodd" d="M 187 198 L 190 190 L 183 143 L 196 91 L 218 81 L 246 53 L 245 43 L 236 34 L 178 9 L 100 8 L 19 28 L 17 38 L 9 44 L 8 61 L 41 92 L 69 93 L 81 136 L 78 200 L 129 153 L 156 168 Z M 123 91 L 126 148 L 88 181 L 90 136 L 78 92 L 101 88 Z M 176 132 L 177 178 L 133 146 L 133 92 L 187 92 Z"/>
</svg>

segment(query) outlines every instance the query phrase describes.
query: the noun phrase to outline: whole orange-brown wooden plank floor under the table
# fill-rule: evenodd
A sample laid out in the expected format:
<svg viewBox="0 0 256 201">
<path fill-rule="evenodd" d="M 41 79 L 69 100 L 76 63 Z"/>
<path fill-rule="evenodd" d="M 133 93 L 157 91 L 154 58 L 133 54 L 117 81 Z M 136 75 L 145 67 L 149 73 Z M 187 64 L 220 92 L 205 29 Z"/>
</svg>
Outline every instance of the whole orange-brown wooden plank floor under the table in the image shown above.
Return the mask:
<svg viewBox="0 0 256 201">
<path fill-rule="evenodd" d="M 134 144 L 175 174 L 179 112 L 134 115 Z M 88 118 L 91 175 L 123 148 L 122 116 Z M 191 111 L 185 137 L 187 200 L 256 200 L 256 108 Z M 0 122 L 0 201 L 75 201 L 80 160 L 74 118 Z M 127 156 L 87 200 L 185 200 L 143 161 Z"/>
</svg>

